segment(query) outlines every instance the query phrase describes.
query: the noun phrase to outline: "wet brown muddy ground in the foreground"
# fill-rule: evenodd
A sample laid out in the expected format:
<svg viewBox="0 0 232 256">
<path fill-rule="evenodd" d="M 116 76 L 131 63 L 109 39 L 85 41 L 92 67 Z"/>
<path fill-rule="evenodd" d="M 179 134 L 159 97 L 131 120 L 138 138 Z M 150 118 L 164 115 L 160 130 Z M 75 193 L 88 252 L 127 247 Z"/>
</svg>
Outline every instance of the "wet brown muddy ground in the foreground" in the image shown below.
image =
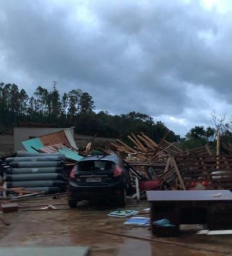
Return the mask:
<svg viewBox="0 0 232 256">
<path fill-rule="evenodd" d="M 178 238 L 158 238 L 148 227 L 129 227 L 123 225 L 124 218 L 108 217 L 112 208 L 85 204 L 69 209 L 65 197 L 19 203 L 24 206 L 18 212 L 1 214 L 10 225 L 0 223 L 0 246 L 81 245 L 90 246 L 92 256 L 232 255 L 232 236 L 228 235 L 200 236 L 184 232 Z M 27 208 L 26 204 L 52 204 L 58 209 Z M 145 207 L 148 207 L 146 202 L 127 206 L 128 209 Z"/>
</svg>

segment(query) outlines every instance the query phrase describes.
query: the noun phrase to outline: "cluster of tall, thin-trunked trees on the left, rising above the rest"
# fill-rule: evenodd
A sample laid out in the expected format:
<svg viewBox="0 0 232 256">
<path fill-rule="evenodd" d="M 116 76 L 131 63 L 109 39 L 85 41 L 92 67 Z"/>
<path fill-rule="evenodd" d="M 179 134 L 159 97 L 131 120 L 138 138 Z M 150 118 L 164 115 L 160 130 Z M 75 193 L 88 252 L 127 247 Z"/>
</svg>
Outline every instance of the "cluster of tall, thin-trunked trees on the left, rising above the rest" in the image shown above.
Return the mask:
<svg viewBox="0 0 232 256">
<path fill-rule="evenodd" d="M 39 86 L 31 97 L 16 84 L 0 83 L 0 124 L 17 126 L 19 122 L 32 121 L 62 124 L 74 122 L 75 115 L 88 114 L 94 109 L 90 94 L 80 89 L 59 94 L 56 82 L 49 92 Z"/>
</svg>

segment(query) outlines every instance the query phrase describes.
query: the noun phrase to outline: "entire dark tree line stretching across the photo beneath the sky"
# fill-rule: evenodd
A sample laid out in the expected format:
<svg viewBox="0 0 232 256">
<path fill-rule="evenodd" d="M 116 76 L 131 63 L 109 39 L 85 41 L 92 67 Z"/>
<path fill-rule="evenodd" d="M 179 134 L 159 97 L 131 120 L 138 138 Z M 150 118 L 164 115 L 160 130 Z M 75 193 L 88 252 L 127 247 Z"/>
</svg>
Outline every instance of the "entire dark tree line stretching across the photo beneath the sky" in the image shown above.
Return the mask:
<svg viewBox="0 0 232 256">
<path fill-rule="evenodd" d="M 97 135 L 127 140 L 127 135 L 141 132 L 156 142 L 168 132 L 162 121 L 154 121 L 146 114 L 132 111 L 128 114 L 110 115 L 107 111 L 95 112 L 92 96 L 81 89 L 60 94 L 56 81 L 52 90 L 38 86 L 29 96 L 25 89 L 19 90 L 16 84 L 0 83 L 0 128 L 13 128 L 25 123 L 43 126 L 71 127 L 82 135 Z M 169 131 L 167 140 L 179 141 L 181 147 L 194 148 L 206 142 L 215 143 L 218 131 L 222 139 L 232 141 L 232 122 L 225 122 L 225 116 L 212 115 L 212 126 L 195 126 L 184 138 Z M 0 130 L 0 131 L 1 131 Z"/>
</svg>

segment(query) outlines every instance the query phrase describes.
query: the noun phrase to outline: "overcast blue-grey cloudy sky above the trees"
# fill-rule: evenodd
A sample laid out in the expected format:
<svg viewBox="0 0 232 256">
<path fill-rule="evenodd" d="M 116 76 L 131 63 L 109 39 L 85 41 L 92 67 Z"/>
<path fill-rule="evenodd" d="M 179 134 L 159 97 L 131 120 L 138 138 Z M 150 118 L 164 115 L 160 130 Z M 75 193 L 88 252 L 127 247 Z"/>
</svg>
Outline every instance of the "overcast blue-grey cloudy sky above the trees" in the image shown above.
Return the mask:
<svg viewBox="0 0 232 256">
<path fill-rule="evenodd" d="M 231 0 L 0 0 L 0 82 L 80 88 L 176 134 L 232 115 Z"/>
</svg>

